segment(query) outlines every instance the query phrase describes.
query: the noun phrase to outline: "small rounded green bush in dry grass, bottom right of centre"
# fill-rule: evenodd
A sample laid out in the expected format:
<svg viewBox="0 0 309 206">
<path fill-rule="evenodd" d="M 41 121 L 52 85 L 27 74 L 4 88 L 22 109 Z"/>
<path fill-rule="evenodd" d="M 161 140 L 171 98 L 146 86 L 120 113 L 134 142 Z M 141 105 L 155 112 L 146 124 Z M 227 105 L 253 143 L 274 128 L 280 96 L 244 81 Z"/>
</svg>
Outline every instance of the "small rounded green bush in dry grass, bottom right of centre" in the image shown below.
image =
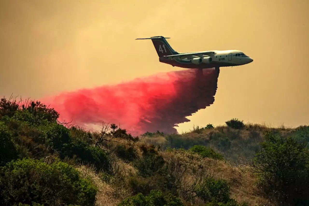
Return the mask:
<svg viewBox="0 0 309 206">
<path fill-rule="evenodd" d="M 227 203 L 230 198 L 230 186 L 223 179 L 206 178 L 194 189 L 199 198 L 205 202 Z"/>
</svg>

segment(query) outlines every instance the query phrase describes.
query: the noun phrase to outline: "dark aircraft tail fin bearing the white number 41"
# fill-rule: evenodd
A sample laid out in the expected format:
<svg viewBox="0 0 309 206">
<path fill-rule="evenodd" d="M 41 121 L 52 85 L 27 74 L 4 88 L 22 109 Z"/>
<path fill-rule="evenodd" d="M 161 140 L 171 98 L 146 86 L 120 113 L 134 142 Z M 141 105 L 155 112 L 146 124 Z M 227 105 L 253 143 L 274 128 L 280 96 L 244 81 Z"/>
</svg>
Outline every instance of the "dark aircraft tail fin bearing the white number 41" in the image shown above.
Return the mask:
<svg viewBox="0 0 309 206">
<path fill-rule="evenodd" d="M 178 52 L 176 52 L 171 47 L 171 45 L 169 45 L 169 43 L 166 41 L 166 39 L 170 39 L 169 37 L 152 36 L 150 38 L 139 38 L 139 39 L 151 39 L 159 57 L 163 57 L 163 56 L 166 56 L 166 55 L 172 55 L 172 54 L 178 54 Z"/>
</svg>

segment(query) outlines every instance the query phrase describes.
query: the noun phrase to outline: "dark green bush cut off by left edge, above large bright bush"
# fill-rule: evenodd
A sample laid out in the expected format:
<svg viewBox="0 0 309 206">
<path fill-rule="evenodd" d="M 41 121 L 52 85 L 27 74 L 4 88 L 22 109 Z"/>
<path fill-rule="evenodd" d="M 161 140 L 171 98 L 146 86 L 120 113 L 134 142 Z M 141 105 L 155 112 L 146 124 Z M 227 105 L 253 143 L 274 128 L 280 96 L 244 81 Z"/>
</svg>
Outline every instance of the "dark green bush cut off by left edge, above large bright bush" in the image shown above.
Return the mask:
<svg viewBox="0 0 309 206">
<path fill-rule="evenodd" d="M 18 157 L 9 128 L 0 121 L 0 166 Z"/>
</svg>

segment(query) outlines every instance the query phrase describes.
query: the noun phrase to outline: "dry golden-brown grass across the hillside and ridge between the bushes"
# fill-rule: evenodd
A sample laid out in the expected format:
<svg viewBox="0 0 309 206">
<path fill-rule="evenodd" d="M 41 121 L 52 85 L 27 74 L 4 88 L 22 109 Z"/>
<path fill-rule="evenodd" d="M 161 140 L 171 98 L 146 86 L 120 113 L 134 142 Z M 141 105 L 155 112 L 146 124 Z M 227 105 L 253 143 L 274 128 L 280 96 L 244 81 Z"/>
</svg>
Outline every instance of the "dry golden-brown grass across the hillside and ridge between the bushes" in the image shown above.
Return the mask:
<svg viewBox="0 0 309 206">
<path fill-rule="evenodd" d="M 196 129 L 196 128 L 195 128 Z M 281 128 L 269 128 L 261 124 L 246 124 L 243 130 L 235 130 L 226 126 L 218 126 L 214 129 L 205 130 L 193 130 L 185 133 L 178 138 L 193 140 L 196 138 L 202 141 L 210 141 L 211 137 L 218 133 L 224 134 L 227 137 L 234 135 L 237 139 L 232 140 L 235 144 L 237 142 L 245 142 L 252 138 L 252 134 L 263 138 L 264 131 L 276 130 L 281 134 L 289 134 L 293 129 L 287 129 L 286 127 Z M 254 137 L 253 137 L 254 138 Z M 166 146 L 168 144 L 167 139 L 161 135 L 154 135 L 152 137 L 144 136 L 140 138 L 138 142 L 132 142 L 125 139 L 117 139 L 118 142 L 106 143 L 106 148 L 112 150 L 118 144 L 128 145 L 136 150 L 137 156 L 142 157 L 143 153 L 141 150 L 142 145 L 150 146 L 160 145 Z M 238 143 L 237 143 L 238 144 Z M 235 150 L 235 148 L 233 148 Z M 216 149 L 215 149 L 216 150 Z M 233 151 L 234 151 L 233 150 Z M 257 177 L 253 174 L 250 166 L 248 165 L 232 165 L 226 161 L 218 161 L 210 158 L 201 158 L 198 155 L 190 152 L 184 152 L 175 150 L 172 152 L 159 151 L 170 172 L 176 175 L 178 182 L 175 182 L 178 188 L 179 197 L 186 201 L 198 203 L 200 200 L 188 200 L 190 194 L 184 194 L 183 191 L 190 191 L 190 187 L 194 181 L 197 181 L 197 176 L 222 178 L 229 182 L 231 185 L 231 198 L 238 202 L 247 202 L 250 205 L 268 205 L 268 201 L 259 195 L 258 188 L 256 187 Z M 237 155 L 237 154 L 236 154 Z M 106 183 L 104 182 L 99 174 L 96 174 L 91 167 L 80 166 L 78 170 L 83 175 L 88 176 L 98 187 L 99 191 L 96 197 L 96 205 L 101 206 L 112 206 L 117 205 L 121 200 L 132 195 L 132 188 L 128 183 L 132 177 L 138 177 L 138 170 L 132 166 L 132 163 L 125 163 L 119 159 L 114 153 L 110 154 L 112 159 L 113 172 L 116 176 L 121 177 L 120 182 Z M 194 171 L 198 171 L 193 174 Z M 200 201 L 201 202 L 201 201 Z"/>
</svg>

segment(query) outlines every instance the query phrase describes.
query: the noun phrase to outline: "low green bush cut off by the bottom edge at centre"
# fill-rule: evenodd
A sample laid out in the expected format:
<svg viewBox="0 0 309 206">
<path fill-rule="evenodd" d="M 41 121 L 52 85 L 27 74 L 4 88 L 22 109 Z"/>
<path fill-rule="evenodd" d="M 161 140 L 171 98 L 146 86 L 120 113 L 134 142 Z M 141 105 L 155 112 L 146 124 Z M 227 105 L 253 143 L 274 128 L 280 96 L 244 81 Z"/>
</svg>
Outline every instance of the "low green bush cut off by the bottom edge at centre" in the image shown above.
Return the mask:
<svg viewBox="0 0 309 206">
<path fill-rule="evenodd" d="M 163 195 L 159 190 L 153 190 L 148 196 L 139 193 L 123 200 L 118 206 L 184 206 L 179 198 L 169 195 Z"/>
</svg>

